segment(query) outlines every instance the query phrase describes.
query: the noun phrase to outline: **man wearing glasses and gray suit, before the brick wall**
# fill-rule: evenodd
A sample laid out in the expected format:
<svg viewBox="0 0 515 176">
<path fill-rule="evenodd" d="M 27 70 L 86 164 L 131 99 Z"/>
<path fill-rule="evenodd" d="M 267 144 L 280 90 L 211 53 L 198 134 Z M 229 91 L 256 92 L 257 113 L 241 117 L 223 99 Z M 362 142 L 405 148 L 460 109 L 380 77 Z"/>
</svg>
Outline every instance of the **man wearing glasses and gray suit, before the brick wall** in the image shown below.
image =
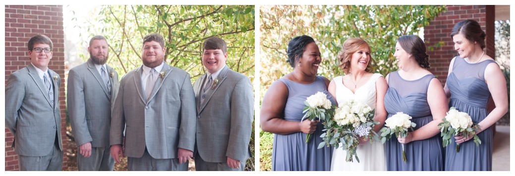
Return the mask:
<svg viewBox="0 0 515 176">
<path fill-rule="evenodd" d="M 12 147 L 20 170 L 61 170 L 61 77 L 48 69 L 53 44 L 38 34 L 28 42 L 30 64 L 9 76 L 5 88 L 5 126 L 14 135 Z"/>
</svg>

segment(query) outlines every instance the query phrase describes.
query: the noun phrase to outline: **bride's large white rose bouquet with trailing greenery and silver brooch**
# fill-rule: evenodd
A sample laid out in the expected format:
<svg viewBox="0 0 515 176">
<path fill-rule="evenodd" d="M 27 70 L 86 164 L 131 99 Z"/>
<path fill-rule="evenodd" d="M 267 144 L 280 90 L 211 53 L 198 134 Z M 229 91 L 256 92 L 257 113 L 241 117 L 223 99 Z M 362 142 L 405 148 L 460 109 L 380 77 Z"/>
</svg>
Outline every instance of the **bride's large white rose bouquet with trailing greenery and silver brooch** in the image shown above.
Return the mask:
<svg viewBox="0 0 515 176">
<path fill-rule="evenodd" d="M 339 148 L 340 144 L 347 150 L 346 161 L 352 162 L 352 157 L 359 163 L 356 149 L 359 138 L 372 139 L 377 134 L 372 130 L 379 122 L 373 121 L 375 109 L 372 110 L 367 104 L 350 100 L 338 105 L 333 118 L 323 119 L 325 131 L 320 137 L 323 139 L 318 148 L 334 146 Z M 372 143 L 373 141 L 370 140 Z M 344 148 L 342 148 L 344 149 Z"/>
</svg>

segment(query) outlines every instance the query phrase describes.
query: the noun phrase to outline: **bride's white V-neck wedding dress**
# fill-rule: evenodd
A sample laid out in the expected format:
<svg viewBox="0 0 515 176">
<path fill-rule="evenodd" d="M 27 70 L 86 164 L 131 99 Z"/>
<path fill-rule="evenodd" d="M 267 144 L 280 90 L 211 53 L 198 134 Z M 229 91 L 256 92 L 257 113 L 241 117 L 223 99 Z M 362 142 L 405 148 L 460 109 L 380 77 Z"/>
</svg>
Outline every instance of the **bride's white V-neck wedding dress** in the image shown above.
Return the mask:
<svg viewBox="0 0 515 176">
<path fill-rule="evenodd" d="M 375 82 L 377 78 L 383 75 L 374 73 L 367 83 L 362 87 L 356 89 L 356 92 L 345 87 L 342 83 L 342 76 L 334 78 L 336 83 L 336 102 L 342 103 L 349 100 L 355 100 L 367 104 L 372 109 L 375 109 L 376 101 L 376 88 Z M 383 144 L 379 141 L 374 141 L 372 144 L 367 142 L 359 145 L 356 149 L 356 155 L 359 158 L 359 163 L 354 160 L 353 162 L 345 161 L 347 151 L 345 147 L 335 148 L 333 151 L 333 158 L 331 162 L 331 170 L 337 171 L 385 171 L 386 158 Z"/>
</svg>

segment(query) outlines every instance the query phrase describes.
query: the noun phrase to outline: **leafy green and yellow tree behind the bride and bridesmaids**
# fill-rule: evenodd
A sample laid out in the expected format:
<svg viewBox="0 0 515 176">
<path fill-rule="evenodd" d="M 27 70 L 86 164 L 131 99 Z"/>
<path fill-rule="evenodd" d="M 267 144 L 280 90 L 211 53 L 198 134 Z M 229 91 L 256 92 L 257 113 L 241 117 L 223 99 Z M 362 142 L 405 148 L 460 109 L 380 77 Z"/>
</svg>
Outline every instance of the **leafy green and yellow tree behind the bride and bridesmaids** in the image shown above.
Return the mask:
<svg viewBox="0 0 515 176">
<path fill-rule="evenodd" d="M 337 56 L 341 45 L 351 37 L 367 41 L 374 58 L 372 72 L 386 75 L 398 69 L 393 58 L 397 39 L 418 34 L 444 10 L 444 6 L 261 6 L 260 99 L 274 80 L 292 70 L 286 62 L 286 47 L 295 36 L 315 38 L 322 52 L 318 72 L 328 79 L 344 74 L 338 68 Z M 260 160 L 269 161 L 270 148 L 260 150 Z"/>
</svg>

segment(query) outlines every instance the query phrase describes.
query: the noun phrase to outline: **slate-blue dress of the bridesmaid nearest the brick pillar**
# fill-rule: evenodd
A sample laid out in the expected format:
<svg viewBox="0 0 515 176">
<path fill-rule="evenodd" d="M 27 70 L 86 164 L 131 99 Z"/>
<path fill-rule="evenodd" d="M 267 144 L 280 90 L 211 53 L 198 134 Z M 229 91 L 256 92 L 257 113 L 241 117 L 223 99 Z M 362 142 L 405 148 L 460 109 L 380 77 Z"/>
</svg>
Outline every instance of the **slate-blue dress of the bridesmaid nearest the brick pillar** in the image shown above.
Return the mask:
<svg viewBox="0 0 515 176">
<path fill-rule="evenodd" d="M 490 63 L 495 61 L 470 64 L 457 56 L 453 71 L 447 78 L 447 87 L 451 91 L 449 107 L 468 113 L 476 124 L 488 115 L 486 108 L 490 91 L 485 82 L 485 69 Z M 445 147 L 445 170 L 492 170 L 492 128 L 488 127 L 477 136 L 481 140 L 479 146 L 474 140 L 469 140 L 459 145 L 459 152 L 456 152 L 455 140 L 451 138 L 451 143 Z"/>
</svg>

